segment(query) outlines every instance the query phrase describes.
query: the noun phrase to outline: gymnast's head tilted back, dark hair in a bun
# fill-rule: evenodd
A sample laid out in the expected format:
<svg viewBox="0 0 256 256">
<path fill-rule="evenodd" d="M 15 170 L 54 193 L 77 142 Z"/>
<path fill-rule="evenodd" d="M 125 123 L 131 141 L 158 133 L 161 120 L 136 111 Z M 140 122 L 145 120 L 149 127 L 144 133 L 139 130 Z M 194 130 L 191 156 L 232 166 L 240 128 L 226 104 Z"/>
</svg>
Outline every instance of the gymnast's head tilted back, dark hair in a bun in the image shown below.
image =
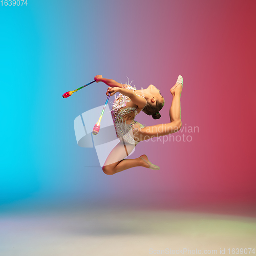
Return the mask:
<svg viewBox="0 0 256 256">
<path fill-rule="evenodd" d="M 147 104 L 145 108 L 142 110 L 145 114 L 152 116 L 154 119 L 159 119 L 161 114 L 159 111 L 163 108 L 164 98 L 153 84 L 148 86 L 145 90 L 145 99 Z"/>
</svg>

